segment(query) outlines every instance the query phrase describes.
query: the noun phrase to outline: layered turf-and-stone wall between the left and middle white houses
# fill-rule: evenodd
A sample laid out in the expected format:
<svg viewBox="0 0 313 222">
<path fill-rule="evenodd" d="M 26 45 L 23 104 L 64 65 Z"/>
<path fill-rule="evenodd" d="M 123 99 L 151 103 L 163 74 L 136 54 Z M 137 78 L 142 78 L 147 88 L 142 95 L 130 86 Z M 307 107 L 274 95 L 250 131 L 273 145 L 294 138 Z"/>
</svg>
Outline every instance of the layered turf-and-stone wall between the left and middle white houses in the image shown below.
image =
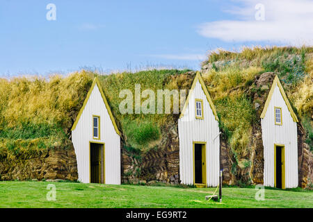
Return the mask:
<svg viewBox="0 0 313 222">
<path fill-rule="evenodd" d="M 140 156 L 122 146 L 122 182 L 138 183 L 140 180 L 179 184 L 179 140 L 177 124 L 162 130 L 160 144 Z"/>
</svg>

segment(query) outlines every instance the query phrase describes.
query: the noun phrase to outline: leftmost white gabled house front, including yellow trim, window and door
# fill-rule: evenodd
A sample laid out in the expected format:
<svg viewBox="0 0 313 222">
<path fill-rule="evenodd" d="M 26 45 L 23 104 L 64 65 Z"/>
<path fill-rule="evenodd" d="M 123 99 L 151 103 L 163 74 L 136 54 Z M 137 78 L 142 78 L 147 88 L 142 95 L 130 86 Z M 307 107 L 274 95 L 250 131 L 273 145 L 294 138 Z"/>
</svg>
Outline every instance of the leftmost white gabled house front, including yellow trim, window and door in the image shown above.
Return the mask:
<svg viewBox="0 0 313 222">
<path fill-rule="evenodd" d="M 120 132 L 95 78 L 72 126 L 79 181 L 120 184 Z"/>
</svg>

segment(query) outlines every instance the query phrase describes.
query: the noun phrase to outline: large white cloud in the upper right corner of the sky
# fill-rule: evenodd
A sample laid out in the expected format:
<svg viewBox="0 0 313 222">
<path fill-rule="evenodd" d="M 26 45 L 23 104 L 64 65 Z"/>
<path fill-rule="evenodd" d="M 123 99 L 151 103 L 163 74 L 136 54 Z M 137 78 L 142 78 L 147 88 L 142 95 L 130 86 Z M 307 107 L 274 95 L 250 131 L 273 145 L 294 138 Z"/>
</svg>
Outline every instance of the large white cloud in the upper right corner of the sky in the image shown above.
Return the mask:
<svg viewBox="0 0 313 222">
<path fill-rule="evenodd" d="M 313 44 L 312 0 L 237 0 L 242 7 L 225 12 L 238 20 L 207 22 L 198 26 L 198 33 L 226 42 L 270 41 L 291 45 Z M 264 5 L 265 20 L 255 19 L 255 6 Z"/>
</svg>

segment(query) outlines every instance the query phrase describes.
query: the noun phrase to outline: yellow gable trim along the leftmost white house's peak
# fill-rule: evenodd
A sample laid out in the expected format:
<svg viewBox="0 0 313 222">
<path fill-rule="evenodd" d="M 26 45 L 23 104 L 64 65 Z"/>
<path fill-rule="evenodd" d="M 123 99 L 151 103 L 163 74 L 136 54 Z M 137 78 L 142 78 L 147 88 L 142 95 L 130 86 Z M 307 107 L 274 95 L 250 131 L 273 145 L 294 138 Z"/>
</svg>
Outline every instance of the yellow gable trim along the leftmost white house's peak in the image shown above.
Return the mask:
<svg viewBox="0 0 313 222">
<path fill-rule="evenodd" d="M 87 96 L 86 96 L 86 99 L 85 99 L 85 101 L 83 101 L 83 106 L 81 107 L 81 110 L 79 110 L 79 114 L 77 115 L 77 118 L 76 118 L 76 120 L 75 120 L 75 122 L 74 122 L 74 124 L 73 124 L 71 130 L 74 130 L 74 129 L 76 128 L 77 123 L 78 123 L 79 119 L 81 118 L 81 114 L 83 113 L 83 110 L 84 110 L 85 107 L 86 107 L 86 104 L 87 104 L 88 99 L 89 99 L 89 97 L 90 97 L 90 95 L 91 95 L 91 92 L 93 92 L 93 89 L 95 88 L 95 85 L 96 85 L 96 84 L 97 84 L 97 87 L 98 87 L 98 89 L 99 89 L 99 91 L 100 91 L 100 94 L 101 94 L 101 96 L 102 96 L 102 99 L 103 99 L 103 101 L 104 101 L 104 104 L 106 105 L 106 110 L 108 110 L 110 119 L 111 119 L 111 121 L 112 121 L 112 123 L 113 123 L 113 126 L 114 126 L 114 129 L 115 129 L 115 132 L 116 132 L 118 135 L 120 135 L 120 131 L 118 130 L 118 126 L 117 126 L 116 123 L 115 123 L 113 114 L 112 114 L 112 112 L 111 112 L 111 108 L 110 108 L 110 106 L 109 106 L 108 101 L 106 101 L 106 96 L 104 95 L 104 92 L 102 91 L 102 87 L 101 87 L 100 82 L 99 82 L 99 80 L 98 80 L 97 77 L 95 77 L 95 79 L 93 80 L 93 85 L 91 85 L 91 87 L 90 87 L 90 89 L 89 89 L 89 91 L 88 91 L 88 94 L 87 94 Z"/>
</svg>

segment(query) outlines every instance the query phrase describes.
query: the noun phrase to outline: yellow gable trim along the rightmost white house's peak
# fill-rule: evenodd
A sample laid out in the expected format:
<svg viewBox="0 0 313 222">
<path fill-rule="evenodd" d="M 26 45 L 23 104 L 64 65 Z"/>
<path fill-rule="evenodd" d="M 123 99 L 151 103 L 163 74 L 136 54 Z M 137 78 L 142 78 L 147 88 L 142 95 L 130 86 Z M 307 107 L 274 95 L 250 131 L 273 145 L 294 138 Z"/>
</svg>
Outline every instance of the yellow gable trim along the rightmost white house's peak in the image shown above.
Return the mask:
<svg viewBox="0 0 313 222">
<path fill-rule="evenodd" d="M 292 119 L 294 119 L 294 122 L 297 123 L 298 122 L 298 118 L 297 118 L 296 114 L 294 113 L 294 110 L 292 110 L 292 108 L 291 108 L 289 100 L 288 100 L 286 94 L 284 93 L 284 88 L 282 87 L 282 84 L 280 83 L 280 79 L 278 78 L 278 76 L 275 76 L 275 79 L 273 81 L 271 90 L 268 93 L 268 96 L 267 96 L 267 99 L 266 99 L 266 102 L 265 102 L 265 105 L 264 105 L 264 109 L 263 109 L 262 114 L 261 114 L 261 119 L 264 119 L 264 117 L 265 117 L 268 105 L 271 102 L 271 99 L 272 99 L 272 96 L 273 96 L 273 92 L 274 92 L 274 89 L 275 89 L 276 85 L 278 85 L 278 88 L 280 89 L 280 94 L 282 94 L 282 98 L 284 99 L 284 102 L 287 105 L 287 108 L 288 108 L 288 110 L 289 110 L 289 112 L 291 114 Z"/>
</svg>

